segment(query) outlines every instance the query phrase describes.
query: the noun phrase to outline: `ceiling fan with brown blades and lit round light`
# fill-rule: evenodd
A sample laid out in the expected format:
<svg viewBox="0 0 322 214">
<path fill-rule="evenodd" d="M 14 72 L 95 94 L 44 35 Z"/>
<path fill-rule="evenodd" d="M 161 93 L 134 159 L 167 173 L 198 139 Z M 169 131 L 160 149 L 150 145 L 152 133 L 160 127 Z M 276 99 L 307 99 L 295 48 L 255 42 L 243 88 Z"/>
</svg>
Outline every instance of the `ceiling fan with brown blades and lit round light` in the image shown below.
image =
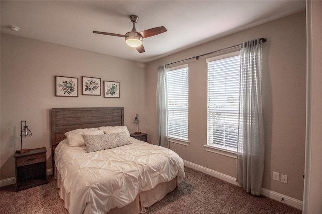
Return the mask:
<svg viewBox="0 0 322 214">
<path fill-rule="evenodd" d="M 167 31 L 167 29 L 164 26 L 160 26 L 160 27 L 156 27 L 156 28 L 147 29 L 145 31 L 137 32 L 135 29 L 135 23 L 139 20 L 139 17 L 136 15 L 131 15 L 130 20 L 133 23 L 133 28 L 132 28 L 132 31 L 127 32 L 125 35 L 106 33 L 106 32 L 100 32 L 100 31 L 93 31 L 93 33 L 110 35 L 110 36 L 125 37 L 125 41 L 128 46 L 135 48 L 139 53 L 143 53 L 143 52 L 145 52 L 144 47 L 142 45 L 143 38 L 162 34 Z"/>
</svg>

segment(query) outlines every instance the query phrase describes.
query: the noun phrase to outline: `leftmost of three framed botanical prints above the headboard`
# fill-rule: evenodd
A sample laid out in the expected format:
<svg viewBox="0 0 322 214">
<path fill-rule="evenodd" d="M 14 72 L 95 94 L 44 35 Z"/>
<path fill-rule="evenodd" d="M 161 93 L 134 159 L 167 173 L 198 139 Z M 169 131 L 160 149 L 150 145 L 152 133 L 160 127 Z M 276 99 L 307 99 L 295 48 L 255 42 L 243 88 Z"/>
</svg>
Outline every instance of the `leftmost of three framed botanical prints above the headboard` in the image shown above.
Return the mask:
<svg viewBox="0 0 322 214">
<path fill-rule="evenodd" d="M 78 96 L 78 78 L 67 76 L 55 76 L 56 96 Z"/>
</svg>

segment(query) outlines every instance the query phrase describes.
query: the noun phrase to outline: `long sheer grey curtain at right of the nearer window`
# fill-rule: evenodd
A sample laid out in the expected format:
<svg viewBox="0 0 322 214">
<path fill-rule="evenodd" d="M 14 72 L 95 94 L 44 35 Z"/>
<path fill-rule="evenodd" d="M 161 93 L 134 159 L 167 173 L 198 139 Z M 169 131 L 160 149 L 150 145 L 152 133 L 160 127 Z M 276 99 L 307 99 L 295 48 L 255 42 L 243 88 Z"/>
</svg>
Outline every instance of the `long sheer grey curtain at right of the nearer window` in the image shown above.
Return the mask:
<svg viewBox="0 0 322 214">
<path fill-rule="evenodd" d="M 264 172 L 260 40 L 244 42 L 240 51 L 240 103 L 237 182 L 260 195 Z"/>
</svg>

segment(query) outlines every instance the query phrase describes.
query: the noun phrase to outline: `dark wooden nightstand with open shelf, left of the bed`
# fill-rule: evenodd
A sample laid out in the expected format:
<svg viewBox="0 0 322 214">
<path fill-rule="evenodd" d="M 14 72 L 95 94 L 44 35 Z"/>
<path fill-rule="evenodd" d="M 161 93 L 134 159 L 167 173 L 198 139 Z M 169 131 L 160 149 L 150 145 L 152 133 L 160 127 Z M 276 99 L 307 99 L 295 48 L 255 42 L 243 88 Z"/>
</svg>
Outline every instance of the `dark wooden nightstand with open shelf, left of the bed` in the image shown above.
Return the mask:
<svg viewBox="0 0 322 214">
<path fill-rule="evenodd" d="M 15 153 L 16 191 L 48 183 L 45 147 Z"/>
</svg>

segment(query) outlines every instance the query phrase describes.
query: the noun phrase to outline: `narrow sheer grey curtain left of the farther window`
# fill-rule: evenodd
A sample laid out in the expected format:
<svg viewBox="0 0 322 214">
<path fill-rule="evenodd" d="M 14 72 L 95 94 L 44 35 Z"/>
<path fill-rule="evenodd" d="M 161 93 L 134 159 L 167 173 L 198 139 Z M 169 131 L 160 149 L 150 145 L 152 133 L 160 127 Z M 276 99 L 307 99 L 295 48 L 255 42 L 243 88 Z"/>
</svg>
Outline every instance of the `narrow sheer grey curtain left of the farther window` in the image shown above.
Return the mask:
<svg viewBox="0 0 322 214">
<path fill-rule="evenodd" d="M 167 108 L 167 65 L 157 67 L 156 85 L 156 114 L 157 114 L 157 141 L 158 145 L 169 149 L 168 138 L 168 108 Z"/>
</svg>

